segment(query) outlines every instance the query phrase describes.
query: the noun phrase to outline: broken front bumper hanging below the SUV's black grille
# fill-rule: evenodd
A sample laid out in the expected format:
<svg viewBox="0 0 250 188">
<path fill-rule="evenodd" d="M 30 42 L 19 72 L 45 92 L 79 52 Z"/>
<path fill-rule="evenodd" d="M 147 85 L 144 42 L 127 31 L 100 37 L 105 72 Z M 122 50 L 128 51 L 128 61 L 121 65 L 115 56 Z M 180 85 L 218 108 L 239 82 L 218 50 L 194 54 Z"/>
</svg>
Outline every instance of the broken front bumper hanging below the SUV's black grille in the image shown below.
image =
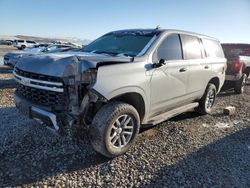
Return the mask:
<svg viewBox="0 0 250 188">
<path fill-rule="evenodd" d="M 17 92 L 14 95 L 14 102 L 22 114 L 38 120 L 50 130 L 58 132 L 65 126 L 87 126 L 86 119 L 88 118 L 89 109 L 98 102 L 106 102 L 106 99 L 92 90 L 84 96 L 79 107 L 75 106 L 74 110 L 71 111 L 63 110 L 57 112 L 53 111 L 51 107 L 32 103 Z"/>
</svg>

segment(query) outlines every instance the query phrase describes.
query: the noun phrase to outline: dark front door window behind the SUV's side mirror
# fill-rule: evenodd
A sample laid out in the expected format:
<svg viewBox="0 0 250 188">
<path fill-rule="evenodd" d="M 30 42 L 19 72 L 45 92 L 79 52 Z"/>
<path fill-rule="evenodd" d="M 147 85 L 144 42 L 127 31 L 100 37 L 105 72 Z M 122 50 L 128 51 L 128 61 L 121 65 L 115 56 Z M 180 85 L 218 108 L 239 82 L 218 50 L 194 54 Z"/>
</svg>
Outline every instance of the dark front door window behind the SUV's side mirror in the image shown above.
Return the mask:
<svg viewBox="0 0 250 188">
<path fill-rule="evenodd" d="M 161 43 L 157 50 L 158 59 L 182 59 L 182 49 L 178 34 L 171 34 Z"/>
</svg>

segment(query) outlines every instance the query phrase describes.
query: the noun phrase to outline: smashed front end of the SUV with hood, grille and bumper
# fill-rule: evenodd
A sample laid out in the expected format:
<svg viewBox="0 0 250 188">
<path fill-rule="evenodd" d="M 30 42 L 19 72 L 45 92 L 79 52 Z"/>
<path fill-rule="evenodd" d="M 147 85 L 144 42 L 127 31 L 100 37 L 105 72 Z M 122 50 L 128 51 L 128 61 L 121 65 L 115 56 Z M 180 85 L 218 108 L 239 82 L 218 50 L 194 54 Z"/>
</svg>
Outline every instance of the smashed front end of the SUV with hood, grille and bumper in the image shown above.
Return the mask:
<svg viewBox="0 0 250 188">
<path fill-rule="evenodd" d="M 17 108 L 56 131 L 90 124 L 90 116 L 106 102 L 92 89 L 96 67 L 77 56 L 22 58 L 13 74 L 20 86 L 15 93 Z"/>
</svg>

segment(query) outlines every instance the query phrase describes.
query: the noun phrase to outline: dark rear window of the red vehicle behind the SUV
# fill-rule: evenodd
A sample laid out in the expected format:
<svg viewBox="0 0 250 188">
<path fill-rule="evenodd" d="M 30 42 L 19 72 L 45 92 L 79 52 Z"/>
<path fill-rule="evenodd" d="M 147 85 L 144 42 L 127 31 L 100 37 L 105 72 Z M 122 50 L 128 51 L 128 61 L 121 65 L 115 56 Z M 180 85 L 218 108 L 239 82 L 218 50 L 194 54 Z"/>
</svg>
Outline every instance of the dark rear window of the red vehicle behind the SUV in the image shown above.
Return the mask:
<svg viewBox="0 0 250 188">
<path fill-rule="evenodd" d="M 227 58 L 236 58 L 238 56 L 250 56 L 250 45 L 222 44 L 222 48 Z"/>
</svg>

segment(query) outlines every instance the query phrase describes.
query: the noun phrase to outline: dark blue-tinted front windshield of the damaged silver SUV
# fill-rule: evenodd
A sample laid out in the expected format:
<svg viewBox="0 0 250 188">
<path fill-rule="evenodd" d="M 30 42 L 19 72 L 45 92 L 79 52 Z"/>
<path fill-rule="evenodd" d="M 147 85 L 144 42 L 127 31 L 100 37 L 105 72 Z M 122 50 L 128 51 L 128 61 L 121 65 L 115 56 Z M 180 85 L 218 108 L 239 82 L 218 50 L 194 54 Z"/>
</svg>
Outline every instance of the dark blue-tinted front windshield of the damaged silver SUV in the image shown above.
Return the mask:
<svg viewBox="0 0 250 188">
<path fill-rule="evenodd" d="M 121 31 L 106 34 L 83 48 L 84 52 L 137 56 L 155 32 Z"/>
</svg>

